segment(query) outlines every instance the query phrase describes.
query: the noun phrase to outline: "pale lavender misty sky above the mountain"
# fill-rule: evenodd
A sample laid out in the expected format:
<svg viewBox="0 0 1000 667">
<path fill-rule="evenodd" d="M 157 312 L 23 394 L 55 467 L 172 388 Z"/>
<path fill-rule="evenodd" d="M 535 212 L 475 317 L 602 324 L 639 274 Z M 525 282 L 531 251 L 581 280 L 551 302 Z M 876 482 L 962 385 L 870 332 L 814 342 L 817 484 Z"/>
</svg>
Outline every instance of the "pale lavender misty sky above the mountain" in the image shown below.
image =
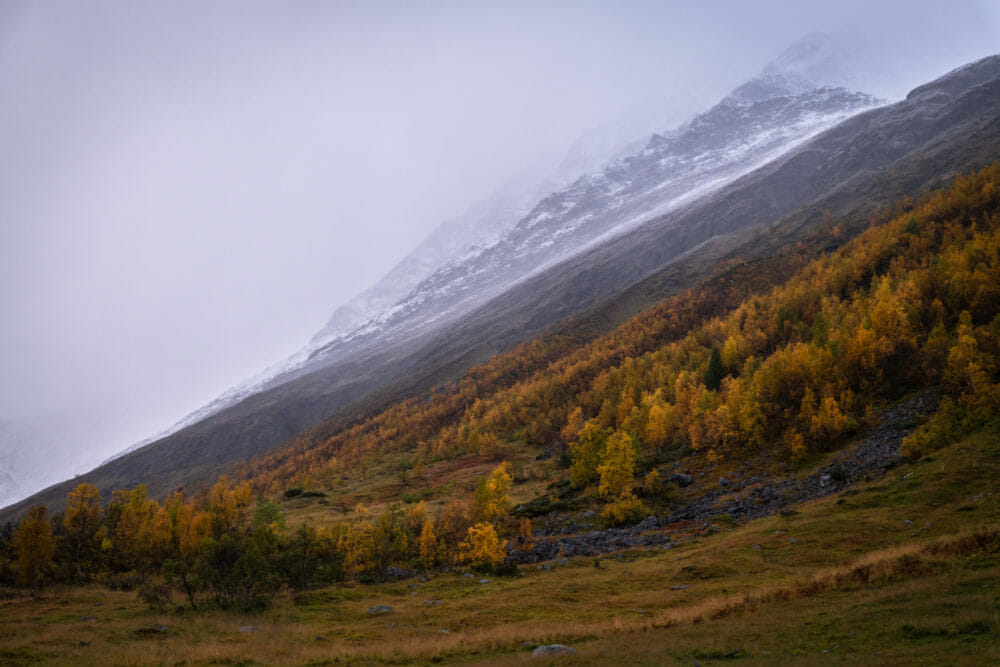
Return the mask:
<svg viewBox="0 0 1000 667">
<path fill-rule="evenodd" d="M 707 108 L 809 32 L 885 97 L 1000 51 L 997 2 L 833 4 L 5 0 L 0 421 L 83 472 L 588 128 Z"/>
</svg>

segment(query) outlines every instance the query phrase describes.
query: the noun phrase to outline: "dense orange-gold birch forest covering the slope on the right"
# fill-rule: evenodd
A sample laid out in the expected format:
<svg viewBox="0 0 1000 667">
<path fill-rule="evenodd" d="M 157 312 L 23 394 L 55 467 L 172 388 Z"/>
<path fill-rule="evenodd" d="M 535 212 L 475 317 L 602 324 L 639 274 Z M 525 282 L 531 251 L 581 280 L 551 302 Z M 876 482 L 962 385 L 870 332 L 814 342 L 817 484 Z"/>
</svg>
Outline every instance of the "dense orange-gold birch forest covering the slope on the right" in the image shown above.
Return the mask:
<svg viewBox="0 0 1000 667">
<path fill-rule="evenodd" d="M 571 471 L 586 483 L 613 434 L 651 461 L 688 446 L 711 461 L 765 451 L 797 459 L 829 449 L 907 391 L 944 383 L 962 400 L 991 400 L 998 174 L 994 166 L 902 203 L 771 289 L 767 277 L 794 259 L 733 267 L 723 282 L 751 270 L 757 278 L 728 293 L 696 288 L 588 345 L 550 337 L 521 346 L 430 397 L 350 427 L 321 424 L 244 469 L 275 493 L 303 475 L 379 465 L 390 452 L 499 459 L 568 441 L 570 456 L 588 461 Z M 955 359 L 985 375 L 967 377 Z M 990 416 L 987 404 L 977 410 Z"/>
</svg>

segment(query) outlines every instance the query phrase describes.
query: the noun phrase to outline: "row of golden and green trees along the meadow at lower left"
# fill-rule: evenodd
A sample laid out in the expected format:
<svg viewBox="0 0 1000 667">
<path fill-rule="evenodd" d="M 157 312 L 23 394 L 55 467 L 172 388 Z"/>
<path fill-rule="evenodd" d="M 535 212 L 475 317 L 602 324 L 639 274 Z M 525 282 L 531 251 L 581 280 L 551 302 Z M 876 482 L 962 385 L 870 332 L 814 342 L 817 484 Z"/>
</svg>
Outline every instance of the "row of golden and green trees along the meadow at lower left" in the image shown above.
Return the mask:
<svg viewBox="0 0 1000 667">
<path fill-rule="evenodd" d="M 35 507 L 0 534 L 0 581 L 104 581 L 136 587 L 150 602 L 197 608 L 250 609 L 281 586 L 306 588 L 364 580 L 390 566 L 500 565 L 506 542 L 511 476 L 506 464 L 485 477 L 469 502 L 453 501 L 437 517 L 424 503 L 380 516 L 358 505 L 350 521 L 285 527 L 279 505 L 254 497 L 248 483 L 226 478 L 198 498 L 177 492 L 162 503 L 146 487 L 116 491 L 102 506 L 97 488 L 80 484 L 65 512 Z"/>
</svg>

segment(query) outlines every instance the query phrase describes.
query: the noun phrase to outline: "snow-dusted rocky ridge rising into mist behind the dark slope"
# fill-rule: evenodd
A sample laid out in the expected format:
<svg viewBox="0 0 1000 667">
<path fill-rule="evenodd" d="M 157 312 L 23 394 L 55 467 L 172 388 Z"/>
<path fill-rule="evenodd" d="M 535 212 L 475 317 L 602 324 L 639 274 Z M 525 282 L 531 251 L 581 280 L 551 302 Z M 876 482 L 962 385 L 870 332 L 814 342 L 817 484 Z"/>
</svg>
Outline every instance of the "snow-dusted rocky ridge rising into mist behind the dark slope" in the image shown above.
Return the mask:
<svg viewBox="0 0 1000 667">
<path fill-rule="evenodd" d="M 810 36 L 716 106 L 653 134 L 632 154 L 567 180 L 544 197 L 536 181 L 534 190 L 526 190 L 533 202 L 524 192 L 520 198 L 503 193 L 470 212 L 464 226 L 461 220 L 442 225 L 378 285 L 338 308 L 302 350 L 126 452 L 292 376 L 452 321 L 539 271 L 705 196 L 883 103 L 842 87 L 848 79 L 830 40 Z"/>
</svg>

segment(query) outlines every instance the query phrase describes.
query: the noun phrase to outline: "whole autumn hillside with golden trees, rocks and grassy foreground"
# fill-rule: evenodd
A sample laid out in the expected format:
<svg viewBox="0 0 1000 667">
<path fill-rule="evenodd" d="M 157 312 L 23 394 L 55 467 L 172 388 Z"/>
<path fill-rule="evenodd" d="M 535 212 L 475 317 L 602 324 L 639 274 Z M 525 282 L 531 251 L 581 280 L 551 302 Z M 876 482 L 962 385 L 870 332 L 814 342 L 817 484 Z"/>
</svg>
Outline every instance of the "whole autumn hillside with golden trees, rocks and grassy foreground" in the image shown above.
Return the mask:
<svg viewBox="0 0 1000 667">
<path fill-rule="evenodd" d="M 162 504 L 79 490 L 52 561 L 11 560 L 5 537 L 3 576 L 141 595 L 11 591 L 0 655 L 996 660 L 998 249 L 994 165 L 819 259 L 726 269 L 756 286 L 326 423 L 243 470 L 256 499 L 226 480 Z M 498 534 L 520 571 L 493 561 Z"/>
</svg>

